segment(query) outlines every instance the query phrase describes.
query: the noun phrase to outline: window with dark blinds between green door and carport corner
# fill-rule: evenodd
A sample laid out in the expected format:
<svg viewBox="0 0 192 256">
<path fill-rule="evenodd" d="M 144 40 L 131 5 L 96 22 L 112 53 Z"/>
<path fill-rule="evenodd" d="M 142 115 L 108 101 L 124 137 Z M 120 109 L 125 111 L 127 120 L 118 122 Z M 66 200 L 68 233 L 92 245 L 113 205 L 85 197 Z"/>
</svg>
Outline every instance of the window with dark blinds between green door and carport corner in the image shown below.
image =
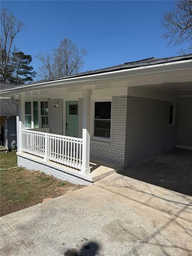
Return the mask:
<svg viewBox="0 0 192 256">
<path fill-rule="evenodd" d="M 111 133 L 111 101 L 95 102 L 94 136 L 110 138 Z"/>
</svg>

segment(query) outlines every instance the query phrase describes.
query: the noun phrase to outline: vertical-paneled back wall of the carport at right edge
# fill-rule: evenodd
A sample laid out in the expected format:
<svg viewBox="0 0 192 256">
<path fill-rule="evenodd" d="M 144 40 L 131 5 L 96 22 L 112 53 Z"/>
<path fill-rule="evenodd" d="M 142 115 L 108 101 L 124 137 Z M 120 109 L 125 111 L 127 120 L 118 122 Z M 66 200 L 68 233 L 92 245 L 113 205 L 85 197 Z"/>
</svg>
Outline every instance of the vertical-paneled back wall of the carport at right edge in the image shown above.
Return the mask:
<svg viewBox="0 0 192 256">
<path fill-rule="evenodd" d="M 180 97 L 177 145 L 192 147 L 192 97 Z"/>
</svg>

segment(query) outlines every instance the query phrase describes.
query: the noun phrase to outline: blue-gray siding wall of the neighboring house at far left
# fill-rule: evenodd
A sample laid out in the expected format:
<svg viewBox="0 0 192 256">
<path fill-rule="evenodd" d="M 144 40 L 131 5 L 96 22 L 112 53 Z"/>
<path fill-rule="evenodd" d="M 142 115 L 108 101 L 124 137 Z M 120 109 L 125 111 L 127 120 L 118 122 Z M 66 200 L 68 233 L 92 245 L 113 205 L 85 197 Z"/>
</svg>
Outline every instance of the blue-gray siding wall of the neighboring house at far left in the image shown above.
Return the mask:
<svg viewBox="0 0 192 256">
<path fill-rule="evenodd" d="M 13 147 L 13 141 L 17 141 L 17 126 L 16 126 L 16 117 L 10 116 L 7 119 L 7 131 L 8 131 L 8 148 Z"/>
</svg>

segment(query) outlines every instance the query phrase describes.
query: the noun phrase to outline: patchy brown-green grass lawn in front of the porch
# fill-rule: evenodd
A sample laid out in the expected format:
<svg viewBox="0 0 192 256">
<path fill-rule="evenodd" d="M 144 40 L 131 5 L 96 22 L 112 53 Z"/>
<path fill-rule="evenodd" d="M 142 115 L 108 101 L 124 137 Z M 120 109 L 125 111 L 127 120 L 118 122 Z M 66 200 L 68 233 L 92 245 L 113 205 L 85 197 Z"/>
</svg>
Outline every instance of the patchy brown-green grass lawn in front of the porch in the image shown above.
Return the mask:
<svg viewBox="0 0 192 256">
<path fill-rule="evenodd" d="M 0 154 L 0 216 L 83 187 L 22 167 L 8 169 L 17 165 L 16 160 L 16 152 Z"/>
</svg>

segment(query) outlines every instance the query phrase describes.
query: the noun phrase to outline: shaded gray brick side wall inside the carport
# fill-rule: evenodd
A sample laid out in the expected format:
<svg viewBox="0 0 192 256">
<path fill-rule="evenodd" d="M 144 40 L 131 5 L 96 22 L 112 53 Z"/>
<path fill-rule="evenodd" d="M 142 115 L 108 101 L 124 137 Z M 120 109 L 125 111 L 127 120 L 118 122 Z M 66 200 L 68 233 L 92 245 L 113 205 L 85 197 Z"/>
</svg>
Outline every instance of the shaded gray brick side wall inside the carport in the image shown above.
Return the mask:
<svg viewBox="0 0 192 256">
<path fill-rule="evenodd" d="M 177 135 L 175 126 L 169 126 L 167 101 L 128 96 L 125 143 L 125 167 L 174 148 Z"/>
</svg>

